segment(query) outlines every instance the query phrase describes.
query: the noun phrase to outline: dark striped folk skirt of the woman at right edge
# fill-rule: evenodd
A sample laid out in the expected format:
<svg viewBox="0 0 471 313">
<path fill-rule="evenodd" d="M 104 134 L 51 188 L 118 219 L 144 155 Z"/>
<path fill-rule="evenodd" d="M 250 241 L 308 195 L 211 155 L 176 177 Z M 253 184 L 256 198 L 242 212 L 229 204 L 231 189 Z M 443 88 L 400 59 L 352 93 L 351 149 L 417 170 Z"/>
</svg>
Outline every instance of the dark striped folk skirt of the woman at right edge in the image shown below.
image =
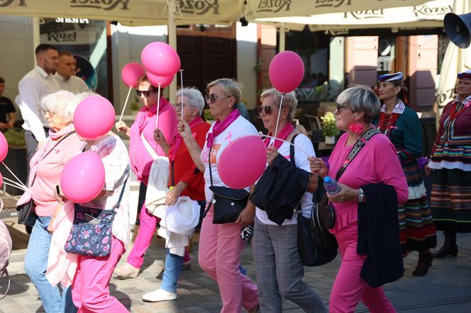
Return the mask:
<svg viewBox="0 0 471 313">
<path fill-rule="evenodd" d="M 471 172 L 436 170 L 430 206 L 436 229 L 471 232 Z"/>
</svg>

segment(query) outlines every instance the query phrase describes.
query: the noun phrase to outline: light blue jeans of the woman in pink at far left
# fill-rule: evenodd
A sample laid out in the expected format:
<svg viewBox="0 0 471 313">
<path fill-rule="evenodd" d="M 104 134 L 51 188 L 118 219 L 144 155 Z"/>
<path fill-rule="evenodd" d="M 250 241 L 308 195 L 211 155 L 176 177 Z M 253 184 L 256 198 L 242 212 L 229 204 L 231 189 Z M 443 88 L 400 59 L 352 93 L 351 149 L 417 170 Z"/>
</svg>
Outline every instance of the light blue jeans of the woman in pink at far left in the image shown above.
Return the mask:
<svg viewBox="0 0 471 313">
<path fill-rule="evenodd" d="M 38 217 L 38 220 L 36 220 L 28 242 L 23 266 L 36 290 L 38 290 L 45 312 L 74 313 L 77 312 L 77 308 L 72 302 L 70 288 L 62 288 L 61 295 L 60 288 L 52 286 L 46 278 L 52 237 L 52 234 L 48 232 L 50 220 L 50 216 Z"/>
</svg>

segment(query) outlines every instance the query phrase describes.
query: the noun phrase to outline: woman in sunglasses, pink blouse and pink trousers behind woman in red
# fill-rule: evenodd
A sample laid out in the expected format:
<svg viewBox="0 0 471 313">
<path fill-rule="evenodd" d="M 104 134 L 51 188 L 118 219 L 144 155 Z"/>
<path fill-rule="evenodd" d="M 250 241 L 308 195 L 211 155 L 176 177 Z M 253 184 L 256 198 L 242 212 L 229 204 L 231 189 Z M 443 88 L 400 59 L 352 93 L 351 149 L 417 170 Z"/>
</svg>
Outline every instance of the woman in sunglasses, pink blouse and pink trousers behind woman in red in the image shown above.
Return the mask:
<svg viewBox="0 0 471 313">
<path fill-rule="evenodd" d="M 157 87 L 150 84 L 146 76 L 138 79 L 138 89 L 135 93 L 143 101 L 144 106 L 136 115 L 134 123 L 128 127 L 123 121 L 116 123 L 116 129 L 125 132 L 130 139 L 129 159 L 131 169 L 138 181 L 148 184 L 150 166 L 157 156 L 166 156 L 165 151 L 154 140 L 154 130 L 157 122 Z M 159 129 L 167 142 L 173 142 L 177 135 L 177 113 L 172 104 L 163 96 L 160 97 Z M 159 219 L 150 213 L 145 205 L 140 210 L 140 227 L 135 238 L 133 250 L 123 266 L 116 268 L 115 275 L 120 278 L 136 278 L 140 266 L 144 262 L 145 251 L 150 246 Z M 187 255 L 189 260 L 189 256 Z"/>
</svg>

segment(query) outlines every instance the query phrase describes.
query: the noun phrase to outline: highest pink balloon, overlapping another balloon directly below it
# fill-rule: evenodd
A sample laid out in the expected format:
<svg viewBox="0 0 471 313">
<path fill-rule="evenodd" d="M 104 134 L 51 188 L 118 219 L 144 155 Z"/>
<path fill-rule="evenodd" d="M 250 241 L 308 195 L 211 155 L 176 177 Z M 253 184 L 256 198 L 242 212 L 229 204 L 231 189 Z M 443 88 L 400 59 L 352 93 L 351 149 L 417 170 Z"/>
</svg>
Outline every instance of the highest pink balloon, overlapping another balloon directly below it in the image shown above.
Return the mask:
<svg viewBox="0 0 471 313">
<path fill-rule="evenodd" d="M 140 61 L 148 72 L 158 76 L 174 75 L 180 69 L 180 57 L 165 42 L 155 41 L 146 45 L 140 54 Z"/>
</svg>

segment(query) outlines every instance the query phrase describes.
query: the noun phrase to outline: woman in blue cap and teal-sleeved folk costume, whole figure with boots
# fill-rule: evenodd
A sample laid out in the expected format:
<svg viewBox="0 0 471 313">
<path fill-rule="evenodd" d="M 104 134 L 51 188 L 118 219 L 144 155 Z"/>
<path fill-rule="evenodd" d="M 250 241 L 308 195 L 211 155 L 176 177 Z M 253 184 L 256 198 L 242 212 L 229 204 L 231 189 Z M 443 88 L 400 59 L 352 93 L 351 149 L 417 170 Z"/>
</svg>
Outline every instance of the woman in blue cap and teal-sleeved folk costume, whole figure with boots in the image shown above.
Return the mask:
<svg viewBox="0 0 471 313">
<path fill-rule="evenodd" d="M 396 147 L 409 186 L 409 200 L 405 205 L 399 205 L 402 254 L 406 256 L 409 251 L 419 251 L 419 262 L 412 275 L 422 276 L 432 264 L 433 257 L 428 249 L 437 244 L 426 188 L 417 163 L 422 156 L 422 126 L 417 113 L 404 103 L 406 87 L 402 72 L 381 75 L 378 84 L 378 97 L 383 105 L 373 124 Z"/>
</svg>

